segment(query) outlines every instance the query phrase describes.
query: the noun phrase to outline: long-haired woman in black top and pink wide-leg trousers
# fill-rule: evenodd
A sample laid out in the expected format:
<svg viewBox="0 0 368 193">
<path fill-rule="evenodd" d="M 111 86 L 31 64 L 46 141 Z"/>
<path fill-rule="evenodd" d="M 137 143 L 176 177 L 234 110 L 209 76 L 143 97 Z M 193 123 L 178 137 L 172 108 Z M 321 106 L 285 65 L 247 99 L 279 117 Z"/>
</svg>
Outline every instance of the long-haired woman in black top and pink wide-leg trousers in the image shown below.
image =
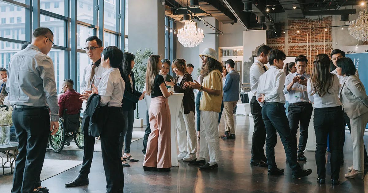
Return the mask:
<svg viewBox="0 0 368 193">
<path fill-rule="evenodd" d="M 171 121 L 167 97 L 173 92 L 167 91 L 164 78 L 159 74 L 160 68 L 160 56 L 150 56 L 146 71 L 146 93 L 152 98 L 148 112 L 151 133 L 143 162 L 145 171 L 170 171 L 171 168 Z"/>
</svg>

